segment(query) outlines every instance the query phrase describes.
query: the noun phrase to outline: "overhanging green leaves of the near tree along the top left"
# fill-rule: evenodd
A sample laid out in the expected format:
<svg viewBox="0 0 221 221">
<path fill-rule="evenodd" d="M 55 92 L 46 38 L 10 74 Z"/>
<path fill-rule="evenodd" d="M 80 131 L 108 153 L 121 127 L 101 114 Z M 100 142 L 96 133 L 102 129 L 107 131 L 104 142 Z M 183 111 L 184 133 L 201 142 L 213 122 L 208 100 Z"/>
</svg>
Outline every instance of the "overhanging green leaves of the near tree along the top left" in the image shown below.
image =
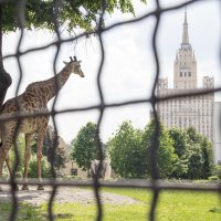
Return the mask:
<svg viewBox="0 0 221 221">
<path fill-rule="evenodd" d="M 146 0 L 140 0 L 146 3 Z M 27 0 L 24 6 L 27 29 L 54 30 L 54 0 Z M 59 2 L 59 1 L 57 1 Z M 102 0 L 65 0 L 59 6 L 59 22 L 65 25 L 69 31 L 75 28 L 92 31 L 97 25 L 102 13 Z M 0 3 L 2 7 L 2 30 L 3 32 L 15 31 L 18 27 L 17 1 L 8 0 Z M 123 13 L 135 14 L 131 0 L 107 0 L 105 11 L 109 14 L 115 9 Z"/>
</svg>

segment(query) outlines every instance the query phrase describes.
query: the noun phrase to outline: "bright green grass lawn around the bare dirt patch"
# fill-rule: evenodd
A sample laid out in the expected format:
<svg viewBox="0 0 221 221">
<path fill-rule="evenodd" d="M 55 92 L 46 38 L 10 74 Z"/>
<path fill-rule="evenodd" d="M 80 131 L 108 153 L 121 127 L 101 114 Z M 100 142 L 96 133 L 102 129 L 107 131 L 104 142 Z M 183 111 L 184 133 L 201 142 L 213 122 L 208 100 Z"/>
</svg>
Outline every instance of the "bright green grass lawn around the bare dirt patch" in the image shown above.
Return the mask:
<svg viewBox="0 0 221 221">
<path fill-rule="evenodd" d="M 151 191 L 141 189 L 110 189 L 105 192 L 127 196 L 138 200 L 136 204 L 104 204 L 105 221 L 143 221 L 148 220 Z M 10 212 L 9 203 L 0 202 L 0 221 L 6 221 Z M 21 204 L 18 220 L 44 221 L 46 206 L 40 208 Z M 96 206 L 92 203 L 54 204 L 55 220 L 90 221 L 95 220 Z M 221 197 L 211 192 L 161 191 L 156 211 L 158 221 L 221 221 Z"/>
</svg>

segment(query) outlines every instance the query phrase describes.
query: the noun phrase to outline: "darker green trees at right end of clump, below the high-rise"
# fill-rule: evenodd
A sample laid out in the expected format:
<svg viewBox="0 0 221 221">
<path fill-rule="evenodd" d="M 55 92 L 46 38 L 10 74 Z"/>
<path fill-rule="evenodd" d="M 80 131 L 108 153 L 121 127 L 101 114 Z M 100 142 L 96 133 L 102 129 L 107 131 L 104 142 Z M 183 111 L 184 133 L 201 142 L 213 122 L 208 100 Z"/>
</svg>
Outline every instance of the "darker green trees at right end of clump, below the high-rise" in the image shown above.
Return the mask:
<svg viewBox="0 0 221 221">
<path fill-rule="evenodd" d="M 207 179 L 211 175 L 212 144 L 194 128 L 169 129 L 178 156 L 172 177 Z"/>
</svg>

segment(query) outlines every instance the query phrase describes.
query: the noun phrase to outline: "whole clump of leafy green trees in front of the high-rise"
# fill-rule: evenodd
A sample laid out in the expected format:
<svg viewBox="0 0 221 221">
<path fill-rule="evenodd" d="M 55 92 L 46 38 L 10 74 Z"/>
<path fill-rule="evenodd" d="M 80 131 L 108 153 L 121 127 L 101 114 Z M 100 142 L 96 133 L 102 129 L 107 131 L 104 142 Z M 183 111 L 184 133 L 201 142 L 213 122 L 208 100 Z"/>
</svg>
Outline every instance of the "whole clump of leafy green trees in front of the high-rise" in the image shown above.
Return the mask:
<svg viewBox="0 0 221 221">
<path fill-rule="evenodd" d="M 167 129 L 159 124 L 158 146 L 155 139 L 155 122 L 144 130 L 124 122 L 108 141 L 112 167 L 125 178 L 150 177 L 149 148 L 157 148 L 157 166 L 160 178 L 208 179 L 212 168 L 212 145 L 193 128 Z M 155 143 L 155 144 L 154 144 Z"/>
</svg>

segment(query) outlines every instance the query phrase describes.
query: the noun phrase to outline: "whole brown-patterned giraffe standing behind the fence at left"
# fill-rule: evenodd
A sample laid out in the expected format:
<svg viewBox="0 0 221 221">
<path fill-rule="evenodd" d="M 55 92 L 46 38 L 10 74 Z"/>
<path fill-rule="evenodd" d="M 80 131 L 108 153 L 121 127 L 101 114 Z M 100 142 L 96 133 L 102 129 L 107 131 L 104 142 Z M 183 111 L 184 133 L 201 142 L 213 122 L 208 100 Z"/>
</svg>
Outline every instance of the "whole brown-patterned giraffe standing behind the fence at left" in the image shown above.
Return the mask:
<svg viewBox="0 0 221 221">
<path fill-rule="evenodd" d="M 64 69 L 55 76 L 34 82 L 28 85 L 23 94 L 7 101 L 2 108 L 1 115 L 10 117 L 14 114 L 34 114 L 40 112 L 48 112 L 48 103 L 53 98 L 57 92 L 64 86 L 69 80 L 71 73 L 77 74 L 84 77 L 84 73 L 81 70 L 81 61 L 76 61 L 70 57 L 70 62 L 64 62 Z M 9 168 L 10 176 L 11 168 L 9 164 L 9 150 L 12 146 L 13 138 L 18 133 L 25 135 L 25 154 L 24 154 L 24 180 L 28 180 L 29 160 L 31 157 L 31 141 L 34 135 L 38 136 L 36 144 L 36 158 L 38 158 L 38 179 L 41 180 L 41 159 L 42 159 L 42 146 L 43 138 L 48 129 L 49 116 L 41 115 L 35 117 L 24 117 L 20 120 L 18 118 L 8 119 L 0 125 L 1 145 L 0 145 L 0 178 L 2 177 L 2 167 L 6 160 Z M 17 128 L 18 127 L 18 128 Z M 17 187 L 18 188 L 18 187 Z M 38 187 L 38 190 L 43 190 L 42 186 Z M 1 187 L 0 187 L 1 190 Z M 28 185 L 23 185 L 22 190 L 29 190 Z"/>
</svg>

